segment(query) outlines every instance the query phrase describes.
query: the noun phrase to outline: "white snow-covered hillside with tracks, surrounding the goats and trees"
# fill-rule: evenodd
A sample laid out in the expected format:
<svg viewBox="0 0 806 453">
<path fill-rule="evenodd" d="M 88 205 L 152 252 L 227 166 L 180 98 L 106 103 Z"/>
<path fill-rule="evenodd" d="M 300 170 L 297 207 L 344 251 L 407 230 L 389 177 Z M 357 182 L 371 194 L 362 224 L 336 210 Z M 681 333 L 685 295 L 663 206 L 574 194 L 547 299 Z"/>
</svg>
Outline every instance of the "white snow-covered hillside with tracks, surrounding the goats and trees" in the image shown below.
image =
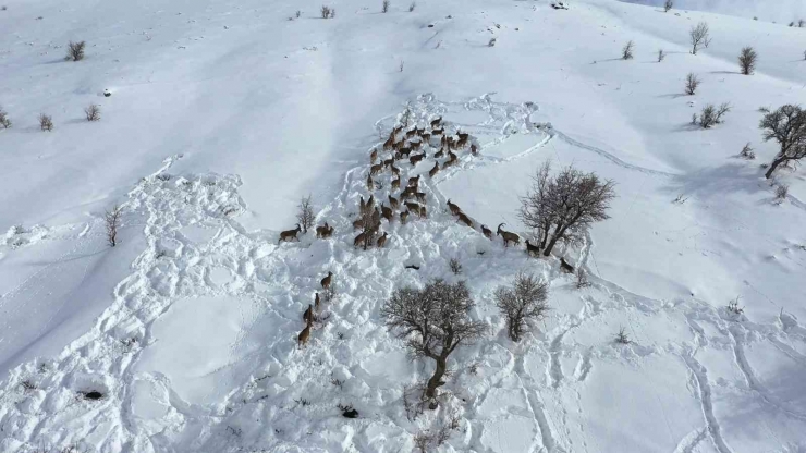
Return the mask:
<svg viewBox="0 0 806 453">
<path fill-rule="evenodd" d="M 329 4 L 328 20 L 285 0 L 0 10 L 0 451 L 407 452 L 444 426 L 430 450 L 806 451 L 806 173 L 779 171 L 776 203 L 758 130 L 759 107 L 806 105 L 806 28 L 615 0 Z M 700 21 L 713 40 L 693 56 Z M 64 61 L 70 40 L 83 61 Z M 723 124 L 691 124 L 721 102 Z M 436 140 L 395 163 L 423 175 L 428 216 L 354 248 L 359 199 L 390 194 L 389 170 L 367 187 L 370 151 L 438 117 L 480 151 L 433 177 Z M 547 160 L 618 198 L 582 245 L 529 258 L 480 225 L 526 235 L 518 195 Z M 307 194 L 335 233 L 279 244 Z M 513 343 L 493 291 L 518 270 L 550 282 L 551 311 Z M 298 350 L 328 272 L 337 297 Z M 410 419 L 403 389 L 432 363 L 410 362 L 379 310 L 433 278 L 466 280 L 489 332 Z"/>
</svg>

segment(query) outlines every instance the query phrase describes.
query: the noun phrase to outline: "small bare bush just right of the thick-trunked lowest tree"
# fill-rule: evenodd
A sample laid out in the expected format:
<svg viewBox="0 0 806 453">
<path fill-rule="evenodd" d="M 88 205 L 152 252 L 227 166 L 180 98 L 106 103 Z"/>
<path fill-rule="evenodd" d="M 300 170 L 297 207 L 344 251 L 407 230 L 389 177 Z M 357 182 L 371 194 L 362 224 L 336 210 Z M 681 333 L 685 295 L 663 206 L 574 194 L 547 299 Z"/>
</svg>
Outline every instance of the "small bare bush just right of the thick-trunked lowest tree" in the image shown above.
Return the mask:
<svg viewBox="0 0 806 453">
<path fill-rule="evenodd" d="M 506 318 L 510 339 L 521 341 L 526 329 L 526 321 L 541 320 L 549 310 L 546 302 L 549 284 L 538 281 L 534 276 L 518 272 L 512 286 L 499 286 L 496 290 L 496 305 Z"/>
</svg>

